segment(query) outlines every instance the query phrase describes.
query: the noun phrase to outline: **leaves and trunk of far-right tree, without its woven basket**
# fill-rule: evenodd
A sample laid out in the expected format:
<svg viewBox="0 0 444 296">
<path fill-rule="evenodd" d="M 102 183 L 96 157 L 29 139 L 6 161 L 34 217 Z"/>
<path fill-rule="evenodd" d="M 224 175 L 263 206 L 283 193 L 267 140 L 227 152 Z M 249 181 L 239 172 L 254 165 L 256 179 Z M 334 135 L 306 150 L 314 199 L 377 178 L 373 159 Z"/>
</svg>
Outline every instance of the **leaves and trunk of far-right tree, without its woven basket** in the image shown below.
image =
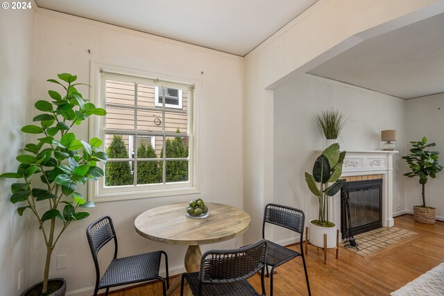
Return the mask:
<svg viewBox="0 0 444 296">
<path fill-rule="evenodd" d="M 421 141 L 411 141 L 410 154 L 403 156 L 411 169 L 411 172 L 404 173 L 407 177 L 419 177 L 419 184 L 422 185 L 422 207 L 425 205 L 425 184 L 428 177 L 436 177 L 436 173 L 443 171 L 442 163 L 438 160 L 438 151 L 426 150 L 428 147 L 436 146 L 436 143 L 427 144 L 427 137 L 422 137 Z"/>
</svg>

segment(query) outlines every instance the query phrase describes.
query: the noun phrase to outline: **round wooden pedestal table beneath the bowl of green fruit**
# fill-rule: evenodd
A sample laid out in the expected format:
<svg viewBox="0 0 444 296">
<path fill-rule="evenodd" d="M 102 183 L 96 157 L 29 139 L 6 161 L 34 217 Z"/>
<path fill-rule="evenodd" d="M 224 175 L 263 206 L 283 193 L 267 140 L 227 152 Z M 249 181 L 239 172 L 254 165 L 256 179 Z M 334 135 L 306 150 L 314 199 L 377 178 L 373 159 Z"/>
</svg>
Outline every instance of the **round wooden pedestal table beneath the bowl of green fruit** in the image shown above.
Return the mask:
<svg viewBox="0 0 444 296">
<path fill-rule="evenodd" d="M 148 209 L 135 219 L 136 232 L 151 241 L 188 245 L 185 269 L 196 272 L 202 257 L 199 245 L 227 241 L 243 234 L 250 226 L 250 215 L 237 207 L 214 202 L 207 206 L 210 216 L 200 219 L 186 216 L 185 202 Z M 168 294 L 180 287 L 180 278 L 176 277 Z"/>
</svg>

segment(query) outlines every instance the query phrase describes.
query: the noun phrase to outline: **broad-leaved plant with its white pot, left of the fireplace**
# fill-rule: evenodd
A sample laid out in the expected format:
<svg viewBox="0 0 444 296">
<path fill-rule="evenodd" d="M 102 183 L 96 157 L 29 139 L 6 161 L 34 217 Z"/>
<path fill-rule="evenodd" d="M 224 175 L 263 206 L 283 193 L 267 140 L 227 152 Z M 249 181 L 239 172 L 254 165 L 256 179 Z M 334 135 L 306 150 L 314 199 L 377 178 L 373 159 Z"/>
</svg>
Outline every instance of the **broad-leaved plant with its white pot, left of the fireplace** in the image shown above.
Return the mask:
<svg viewBox="0 0 444 296">
<path fill-rule="evenodd" d="M 336 225 L 329 220 L 328 199 L 345 183 L 339 179 L 345 153 L 339 151 L 338 143 L 333 143 L 316 158 L 313 174 L 305 172 L 308 188 L 318 198 L 318 219 L 309 221 L 309 242 L 317 247 L 324 247 L 324 234 L 327 234 L 327 248 L 336 246 Z"/>
</svg>

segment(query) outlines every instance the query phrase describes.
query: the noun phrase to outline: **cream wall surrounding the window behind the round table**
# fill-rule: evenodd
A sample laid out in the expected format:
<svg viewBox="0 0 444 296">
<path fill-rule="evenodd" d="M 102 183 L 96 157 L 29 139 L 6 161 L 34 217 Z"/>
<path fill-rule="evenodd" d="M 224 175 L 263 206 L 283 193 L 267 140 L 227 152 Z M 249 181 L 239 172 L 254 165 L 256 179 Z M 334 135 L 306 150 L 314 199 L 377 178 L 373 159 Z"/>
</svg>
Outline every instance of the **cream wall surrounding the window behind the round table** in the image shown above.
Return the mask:
<svg viewBox="0 0 444 296">
<path fill-rule="evenodd" d="M 88 54 L 88 49 L 91 54 Z M 199 196 L 207 202 L 242 207 L 242 58 L 46 10 L 37 12 L 35 51 L 35 101 L 47 96 L 49 87 L 56 87 L 46 82 L 48 78 L 56 78 L 56 73 L 76 74 L 79 82 L 95 79 L 89 77 L 90 62 L 198 80 L 201 85 L 197 114 L 201 175 Z M 87 93 L 85 88 L 81 91 Z M 94 91 L 92 89 L 92 96 Z M 81 137 L 87 137 L 87 125 L 77 132 Z M 85 229 L 103 215 L 110 215 L 114 220 L 120 242 L 119 256 L 163 249 L 169 254 L 170 275 L 182 271 L 186 246 L 165 245 L 142 238 L 134 230 L 134 219 L 146 209 L 186 202 L 196 196 L 97 204 L 87 220 L 73 223 L 67 229 L 54 250 L 51 275 L 65 277 L 71 293 L 90 295 L 90 288 L 94 285 L 94 265 Z M 35 232 L 31 249 L 38 259 L 31 263 L 31 275 L 37 281 L 42 273 L 44 248 L 35 228 L 33 225 Z M 235 247 L 241 242 L 241 238 L 236 238 L 218 245 L 204 245 L 202 249 Z M 56 270 L 58 254 L 68 255 L 67 269 Z"/>
</svg>

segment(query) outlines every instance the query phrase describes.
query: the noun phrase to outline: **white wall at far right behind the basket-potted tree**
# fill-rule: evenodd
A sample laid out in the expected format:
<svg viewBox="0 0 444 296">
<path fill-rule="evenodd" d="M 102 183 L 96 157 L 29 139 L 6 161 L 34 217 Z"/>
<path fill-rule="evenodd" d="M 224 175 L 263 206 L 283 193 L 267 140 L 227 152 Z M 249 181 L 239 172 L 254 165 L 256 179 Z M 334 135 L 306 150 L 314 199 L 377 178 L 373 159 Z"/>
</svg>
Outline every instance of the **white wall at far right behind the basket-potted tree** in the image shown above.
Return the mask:
<svg viewBox="0 0 444 296">
<path fill-rule="evenodd" d="M 439 151 L 439 159 L 444 163 L 444 94 L 413 98 L 407 101 L 407 149 L 409 141 L 420 141 L 426 136 L 429 143 L 436 143 L 430 150 Z M 409 168 L 405 168 L 407 173 Z M 407 178 L 407 210 L 422 204 L 422 186 L 418 177 Z M 429 207 L 436 207 L 436 218 L 444 220 L 444 172 L 438 173 L 435 179 L 429 178 L 425 185 L 425 203 Z"/>
</svg>

